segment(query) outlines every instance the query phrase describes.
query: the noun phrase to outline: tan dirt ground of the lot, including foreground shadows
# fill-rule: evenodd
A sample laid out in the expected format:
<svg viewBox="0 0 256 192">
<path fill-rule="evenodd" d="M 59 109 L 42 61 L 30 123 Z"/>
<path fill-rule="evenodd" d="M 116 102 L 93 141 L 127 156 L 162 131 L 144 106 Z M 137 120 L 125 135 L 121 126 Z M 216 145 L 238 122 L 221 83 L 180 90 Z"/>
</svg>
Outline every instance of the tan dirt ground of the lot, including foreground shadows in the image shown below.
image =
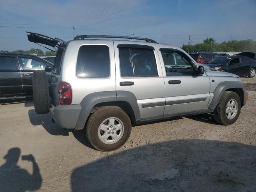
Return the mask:
<svg viewBox="0 0 256 192">
<path fill-rule="evenodd" d="M 0 105 L 0 191 L 256 191 L 256 78 L 237 122 L 212 115 L 134 126 L 114 152 L 94 150 L 84 130 L 38 115 L 32 100 Z"/>
</svg>

